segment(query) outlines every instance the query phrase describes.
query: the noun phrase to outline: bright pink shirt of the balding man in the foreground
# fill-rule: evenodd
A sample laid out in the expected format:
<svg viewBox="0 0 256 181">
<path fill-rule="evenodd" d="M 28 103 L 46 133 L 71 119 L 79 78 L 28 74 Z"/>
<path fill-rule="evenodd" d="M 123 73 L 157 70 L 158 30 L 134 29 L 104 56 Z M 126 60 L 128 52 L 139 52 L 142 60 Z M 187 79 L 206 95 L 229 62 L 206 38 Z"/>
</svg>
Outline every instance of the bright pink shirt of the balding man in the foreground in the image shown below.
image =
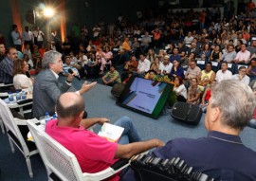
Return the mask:
<svg viewBox="0 0 256 181">
<path fill-rule="evenodd" d="M 52 119 L 46 124 L 46 133 L 76 155 L 82 172 L 100 172 L 117 161 L 114 157 L 118 144 L 109 142 L 82 126 L 58 126 L 57 119 Z M 115 174 L 106 180 L 118 181 L 119 175 Z"/>
</svg>

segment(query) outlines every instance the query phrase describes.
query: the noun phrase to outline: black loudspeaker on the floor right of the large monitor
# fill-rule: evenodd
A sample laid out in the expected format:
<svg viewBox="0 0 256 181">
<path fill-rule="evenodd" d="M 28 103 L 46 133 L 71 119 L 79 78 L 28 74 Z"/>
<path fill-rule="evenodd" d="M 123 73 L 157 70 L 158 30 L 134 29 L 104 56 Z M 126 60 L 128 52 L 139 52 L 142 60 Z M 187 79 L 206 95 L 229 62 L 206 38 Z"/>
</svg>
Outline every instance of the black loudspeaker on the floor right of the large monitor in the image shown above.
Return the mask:
<svg viewBox="0 0 256 181">
<path fill-rule="evenodd" d="M 202 117 L 202 108 L 191 103 L 177 101 L 174 104 L 171 116 L 187 124 L 197 125 Z"/>
</svg>

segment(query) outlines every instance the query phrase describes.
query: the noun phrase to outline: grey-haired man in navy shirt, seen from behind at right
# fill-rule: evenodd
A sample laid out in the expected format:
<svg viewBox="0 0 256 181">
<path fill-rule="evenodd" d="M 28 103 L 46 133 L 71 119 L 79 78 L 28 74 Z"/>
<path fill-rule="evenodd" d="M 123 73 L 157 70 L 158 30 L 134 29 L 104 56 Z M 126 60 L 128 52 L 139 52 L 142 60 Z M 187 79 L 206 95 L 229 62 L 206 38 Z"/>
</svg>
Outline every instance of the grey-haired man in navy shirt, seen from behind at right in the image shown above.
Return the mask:
<svg viewBox="0 0 256 181">
<path fill-rule="evenodd" d="M 205 116 L 208 136 L 176 138 L 153 154 L 163 159 L 181 157 L 214 180 L 256 180 L 256 153 L 243 145 L 239 136 L 255 106 L 255 96 L 246 84 L 230 80 L 216 83 Z"/>
</svg>

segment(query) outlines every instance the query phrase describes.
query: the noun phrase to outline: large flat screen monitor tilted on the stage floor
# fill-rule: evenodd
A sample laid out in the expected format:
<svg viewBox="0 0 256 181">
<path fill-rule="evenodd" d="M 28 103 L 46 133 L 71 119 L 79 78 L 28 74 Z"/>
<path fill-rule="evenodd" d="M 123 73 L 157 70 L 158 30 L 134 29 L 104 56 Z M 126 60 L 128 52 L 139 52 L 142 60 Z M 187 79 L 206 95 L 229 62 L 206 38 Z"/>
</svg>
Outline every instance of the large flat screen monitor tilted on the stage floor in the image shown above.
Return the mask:
<svg viewBox="0 0 256 181">
<path fill-rule="evenodd" d="M 132 77 L 125 85 L 117 103 L 152 118 L 158 118 L 165 106 L 173 84 Z"/>
</svg>

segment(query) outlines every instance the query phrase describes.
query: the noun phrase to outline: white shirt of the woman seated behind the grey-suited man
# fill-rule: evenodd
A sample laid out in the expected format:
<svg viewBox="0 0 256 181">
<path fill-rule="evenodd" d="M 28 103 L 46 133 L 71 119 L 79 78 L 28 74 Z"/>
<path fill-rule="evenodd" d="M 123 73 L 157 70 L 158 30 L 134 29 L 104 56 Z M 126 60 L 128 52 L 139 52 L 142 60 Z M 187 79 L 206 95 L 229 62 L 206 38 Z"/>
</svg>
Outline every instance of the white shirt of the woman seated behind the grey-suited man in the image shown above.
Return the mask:
<svg viewBox="0 0 256 181">
<path fill-rule="evenodd" d="M 17 74 L 13 78 L 13 85 L 15 89 L 31 88 L 33 82 L 25 74 Z"/>
</svg>

